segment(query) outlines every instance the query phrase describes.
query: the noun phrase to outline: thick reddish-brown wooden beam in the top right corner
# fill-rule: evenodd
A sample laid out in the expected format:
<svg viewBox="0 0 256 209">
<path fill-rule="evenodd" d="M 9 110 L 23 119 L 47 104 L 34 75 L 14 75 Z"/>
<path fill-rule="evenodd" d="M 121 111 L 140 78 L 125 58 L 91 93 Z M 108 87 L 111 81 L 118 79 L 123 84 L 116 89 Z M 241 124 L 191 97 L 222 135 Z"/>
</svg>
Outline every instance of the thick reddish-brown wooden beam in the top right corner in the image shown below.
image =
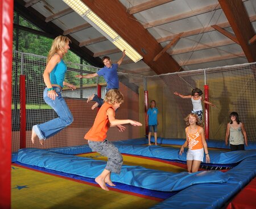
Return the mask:
<svg viewBox="0 0 256 209">
<path fill-rule="evenodd" d="M 241 0 L 218 0 L 249 62 L 256 61 L 256 43 L 249 44 L 255 35 L 249 16 Z"/>
</svg>

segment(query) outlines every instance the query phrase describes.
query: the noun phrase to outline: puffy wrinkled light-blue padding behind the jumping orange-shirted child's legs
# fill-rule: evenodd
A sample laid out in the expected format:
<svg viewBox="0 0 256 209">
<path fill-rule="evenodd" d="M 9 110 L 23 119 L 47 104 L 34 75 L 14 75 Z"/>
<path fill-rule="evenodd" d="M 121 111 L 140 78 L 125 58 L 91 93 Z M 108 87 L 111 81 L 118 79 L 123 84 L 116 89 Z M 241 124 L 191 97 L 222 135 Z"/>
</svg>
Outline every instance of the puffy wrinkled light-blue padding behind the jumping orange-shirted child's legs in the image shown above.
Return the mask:
<svg viewBox="0 0 256 209">
<path fill-rule="evenodd" d="M 42 149 L 20 149 L 18 161 L 58 172 L 96 178 L 106 166 L 105 161 L 49 152 Z M 156 178 L 157 177 L 157 178 Z M 123 165 L 121 173 L 112 174 L 112 181 L 156 191 L 179 191 L 200 183 L 223 183 L 229 177 L 219 171 L 171 173 Z"/>
</svg>

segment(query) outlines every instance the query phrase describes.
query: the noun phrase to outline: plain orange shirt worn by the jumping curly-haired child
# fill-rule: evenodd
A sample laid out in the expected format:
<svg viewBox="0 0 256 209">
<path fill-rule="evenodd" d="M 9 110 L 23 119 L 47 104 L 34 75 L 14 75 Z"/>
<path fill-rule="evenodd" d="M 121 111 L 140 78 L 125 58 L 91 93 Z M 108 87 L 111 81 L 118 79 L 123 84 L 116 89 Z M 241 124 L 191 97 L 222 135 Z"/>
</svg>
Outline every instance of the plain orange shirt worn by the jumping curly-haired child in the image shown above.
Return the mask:
<svg viewBox="0 0 256 209">
<path fill-rule="evenodd" d="M 101 106 L 94 120 L 93 127 L 90 128 L 90 130 L 86 133 L 84 139 L 90 141 L 104 141 L 106 139 L 106 132 L 108 132 L 110 127 L 109 118 L 107 115 L 107 110 L 109 108 L 113 108 L 114 110 L 113 105 L 110 105 L 107 102 Z"/>
</svg>

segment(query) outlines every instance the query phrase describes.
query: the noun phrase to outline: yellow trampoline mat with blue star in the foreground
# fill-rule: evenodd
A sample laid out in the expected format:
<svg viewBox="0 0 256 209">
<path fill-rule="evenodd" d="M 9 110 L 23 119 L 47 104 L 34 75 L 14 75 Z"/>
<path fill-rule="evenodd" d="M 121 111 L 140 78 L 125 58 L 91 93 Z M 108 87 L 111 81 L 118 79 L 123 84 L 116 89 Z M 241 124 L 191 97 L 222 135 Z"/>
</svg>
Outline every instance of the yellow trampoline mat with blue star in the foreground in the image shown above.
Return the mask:
<svg viewBox="0 0 256 209">
<path fill-rule="evenodd" d="M 104 191 L 72 179 L 57 177 L 15 164 L 11 168 L 11 208 L 150 208 L 158 201 Z"/>
</svg>

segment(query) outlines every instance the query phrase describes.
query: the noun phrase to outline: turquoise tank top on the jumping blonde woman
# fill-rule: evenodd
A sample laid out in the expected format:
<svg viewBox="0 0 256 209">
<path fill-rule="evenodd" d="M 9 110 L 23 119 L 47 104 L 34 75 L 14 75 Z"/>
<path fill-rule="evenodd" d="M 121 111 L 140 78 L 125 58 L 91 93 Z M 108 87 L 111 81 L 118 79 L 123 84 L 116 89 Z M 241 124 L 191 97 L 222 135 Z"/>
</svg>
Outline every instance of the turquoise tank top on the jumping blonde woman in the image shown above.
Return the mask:
<svg viewBox="0 0 256 209">
<path fill-rule="evenodd" d="M 65 79 L 65 73 L 67 72 L 67 65 L 61 59 L 60 62 L 55 65 L 50 73 L 50 81 L 52 84 L 57 84 L 63 87 L 63 81 Z"/>
</svg>

